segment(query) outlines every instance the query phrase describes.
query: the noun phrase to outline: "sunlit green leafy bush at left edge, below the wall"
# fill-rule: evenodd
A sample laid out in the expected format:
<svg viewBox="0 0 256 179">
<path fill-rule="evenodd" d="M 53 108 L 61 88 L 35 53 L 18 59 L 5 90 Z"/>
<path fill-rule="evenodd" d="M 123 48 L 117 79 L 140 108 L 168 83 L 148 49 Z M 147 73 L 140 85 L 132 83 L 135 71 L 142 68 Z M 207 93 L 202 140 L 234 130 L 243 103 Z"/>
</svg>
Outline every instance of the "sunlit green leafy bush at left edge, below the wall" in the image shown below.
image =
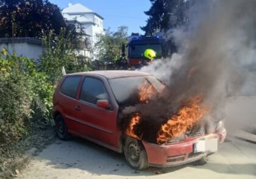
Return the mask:
<svg viewBox="0 0 256 179">
<path fill-rule="evenodd" d="M 6 51 L 1 52 L 7 55 Z M 30 85 L 21 72 L 18 58 L 0 58 L 0 153 L 4 147 L 20 138 L 24 131 L 24 122 L 31 116 Z M 20 60 L 21 61 L 21 60 Z"/>
</svg>

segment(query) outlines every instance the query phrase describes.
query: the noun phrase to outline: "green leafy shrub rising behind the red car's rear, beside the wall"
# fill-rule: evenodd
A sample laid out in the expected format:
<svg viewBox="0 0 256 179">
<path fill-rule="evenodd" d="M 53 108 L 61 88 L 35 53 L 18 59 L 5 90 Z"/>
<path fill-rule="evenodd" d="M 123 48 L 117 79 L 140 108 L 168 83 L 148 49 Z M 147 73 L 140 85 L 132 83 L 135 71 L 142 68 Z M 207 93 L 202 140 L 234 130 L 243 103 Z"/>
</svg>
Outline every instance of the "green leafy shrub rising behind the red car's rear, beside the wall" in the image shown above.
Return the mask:
<svg viewBox="0 0 256 179">
<path fill-rule="evenodd" d="M 40 71 L 49 75 L 52 83 L 59 82 L 62 77 L 62 66 L 66 72 L 79 72 L 90 70 L 91 60 L 79 55 L 80 49 L 85 47 L 84 33 L 76 29 L 62 28 L 57 37 L 54 31 L 43 38 L 44 52 L 39 60 Z"/>
</svg>

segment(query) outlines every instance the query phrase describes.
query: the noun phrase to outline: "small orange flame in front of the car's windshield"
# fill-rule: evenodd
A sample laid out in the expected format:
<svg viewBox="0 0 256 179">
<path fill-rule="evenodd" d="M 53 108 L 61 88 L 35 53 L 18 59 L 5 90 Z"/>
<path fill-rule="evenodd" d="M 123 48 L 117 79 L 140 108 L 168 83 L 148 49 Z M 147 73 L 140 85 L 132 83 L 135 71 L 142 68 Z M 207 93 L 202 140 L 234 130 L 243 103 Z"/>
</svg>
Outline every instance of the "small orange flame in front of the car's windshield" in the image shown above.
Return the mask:
<svg viewBox="0 0 256 179">
<path fill-rule="evenodd" d="M 147 81 L 145 81 L 139 88 L 139 97 L 140 102 L 148 103 L 148 100 L 151 99 L 152 95 L 155 93 L 155 88 L 153 85 L 149 85 Z"/>
</svg>

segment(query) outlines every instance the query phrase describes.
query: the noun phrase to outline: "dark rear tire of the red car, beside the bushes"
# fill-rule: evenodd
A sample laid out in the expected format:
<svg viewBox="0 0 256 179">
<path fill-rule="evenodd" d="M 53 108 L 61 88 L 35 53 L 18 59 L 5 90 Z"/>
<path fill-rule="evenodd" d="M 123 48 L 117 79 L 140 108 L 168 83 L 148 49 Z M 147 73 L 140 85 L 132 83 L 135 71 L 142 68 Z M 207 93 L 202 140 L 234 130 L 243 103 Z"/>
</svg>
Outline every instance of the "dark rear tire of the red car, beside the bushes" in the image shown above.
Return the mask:
<svg viewBox="0 0 256 179">
<path fill-rule="evenodd" d="M 68 133 L 68 127 L 62 116 L 58 115 L 55 118 L 55 129 L 59 139 L 66 141 L 70 139 L 70 134 Z"/>
</svg>

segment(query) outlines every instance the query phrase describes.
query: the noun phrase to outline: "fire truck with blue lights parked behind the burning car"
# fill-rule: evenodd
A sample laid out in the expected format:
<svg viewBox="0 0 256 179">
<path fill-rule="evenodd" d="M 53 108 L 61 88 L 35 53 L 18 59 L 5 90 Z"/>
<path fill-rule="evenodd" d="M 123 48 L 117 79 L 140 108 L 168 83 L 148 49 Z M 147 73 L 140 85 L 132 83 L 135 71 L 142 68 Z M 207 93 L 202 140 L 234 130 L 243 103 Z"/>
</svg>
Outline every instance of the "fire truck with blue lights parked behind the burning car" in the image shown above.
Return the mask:
<svg viewBox="0 0 256 179">
<path fill-rule="evenodd" d="M 153 49 L 157 52 L 155 59 L 165 56 L 165 38 L 161 36 L 143 37 L 130 36 L 127 38 L 127 44 L 122 46 L 122 57 L 126 57 L 130 66 L 140 68 L 144 59 L 144 51 L 146 49 Z"/>
</svg>

